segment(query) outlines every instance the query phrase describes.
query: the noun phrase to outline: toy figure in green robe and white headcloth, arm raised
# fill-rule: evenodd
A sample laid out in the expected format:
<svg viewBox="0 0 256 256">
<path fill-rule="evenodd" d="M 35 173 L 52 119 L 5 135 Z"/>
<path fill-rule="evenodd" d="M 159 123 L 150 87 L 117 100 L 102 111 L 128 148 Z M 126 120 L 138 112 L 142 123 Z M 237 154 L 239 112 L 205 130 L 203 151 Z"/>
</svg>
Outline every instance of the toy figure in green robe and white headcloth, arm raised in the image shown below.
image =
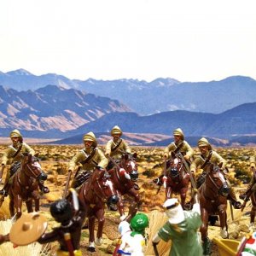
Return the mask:
<svg viewBox="0 0 256 256">
<path fill-rule="evenodd" d="M 172 240 L 170 256 L 201 256 L 201 236 L 197 231 L 201 226 L 201 210 L 197 195 L 192 211 L 184 211 L 177 198 L 167 199 L 163 207 L 166 209 L 168 221 L 154 235 L 153 246 L 155 247 L 160 239 Z"/>
</svg>

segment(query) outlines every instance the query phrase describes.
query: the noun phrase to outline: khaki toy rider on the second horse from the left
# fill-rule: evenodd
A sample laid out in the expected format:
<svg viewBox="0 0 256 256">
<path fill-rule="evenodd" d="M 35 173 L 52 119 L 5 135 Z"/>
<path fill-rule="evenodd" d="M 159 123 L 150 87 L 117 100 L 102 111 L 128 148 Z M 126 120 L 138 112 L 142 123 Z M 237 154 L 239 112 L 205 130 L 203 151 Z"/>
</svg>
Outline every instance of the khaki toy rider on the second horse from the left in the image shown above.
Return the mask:
<svg viewBox="0 0 256 256">
<path fill-rule="evenodd" d="M 108 166 L 108 159 L 103 154 L 100 148 L 97 148 L 96 136 L 90 131 L 83 137 L 84 148 L 79 150 L 77 154 L 70 160 L 68 172 L 73 172 L 76 166 L 79 165 L 75 176 L 73 177 L 73 188 L 79 188 L 94 171 L 95 168 L 105 170 Z"/>
</svg>

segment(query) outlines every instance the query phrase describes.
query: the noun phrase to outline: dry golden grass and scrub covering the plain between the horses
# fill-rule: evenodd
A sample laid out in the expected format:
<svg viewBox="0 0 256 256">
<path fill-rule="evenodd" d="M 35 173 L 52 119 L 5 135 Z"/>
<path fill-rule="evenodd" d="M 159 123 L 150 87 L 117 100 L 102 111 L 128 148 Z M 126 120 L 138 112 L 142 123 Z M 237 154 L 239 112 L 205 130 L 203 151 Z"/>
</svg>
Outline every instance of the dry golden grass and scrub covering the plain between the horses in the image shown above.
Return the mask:
<svg viewBox="0 0 256 256">
<path fill-rule="evenodd" d="M 6 148 L 6 145 L 0 145 L 0 157 L 3 153 L 3 150 Z M 67 179 L 67 165 L 68 161 L 73 157 L 73 155 L 82 148 L 82 145 L 32 145 L 32 148 L 39 153 L 41 159 L 41 166 L 44 169 L 44 172 L 48 173 L 48 179 L 45 183 L 51 191 L 51 193 L 42 196 L 41 199 L 41 209 L 45 212 L 49 211 L 49 203 L 60 199 L 64 186 Z M 102 147 L 100 147 L 102 148 Z M 247 177 L 248 179 L 251 176 L 251 173 L 248 172 L 249 161 L 248 157 L 255 152 L 255 148 L 215 148 L 218 153 L 221 154 L 227 161 L 228 167 L 230 168 L 230 180 L 234 184 L 236 189 L 236 194 L 239 195 L 246 189 L 246 184 L 243 184 L 243 178 Z M 147 147 L 132 147 L 133 152 L 137 152 L 138 158 L 138 170 L 139 170 L 139 180 L 138 184 L 140 186 L 140 194 L 143 198 L 143 207 L 142 211 L 146 212 L 150 218 L 150 227 L 148 231 L 148 246 L 146 248 L 146 255 L 154 255 L 151 247 L 151 239 L 154 236 L 154 231 L 158 230 L 161 224 L 164 224 L 164 218 L 159 218 L 162 216 L 160 213 L 161 206 L 165 201 L 165 191 L 163 188 L 160 189 L 160 192 L 157 194 L 158 186 L 155 185 L 152 180 L 155 177 L 158 177 L 162 172 L 163 164 L 163 148 L 147 148 Z M 197 148 L 195 148 L 195 154 L 199 154 Z M 237 173 L 241 174 L 241 177 L 237 178 Z M 243 175 L 243 176 L 242 176 Z M 190 192 L 189 192 L 190 194 Z M 190 195 L 188 194 L 188 199 Z M 127 208 L 129 201 L 131 199 L 127 198 L 125 200 L 125 207 Z M 8 201 L 5 200 L 3 206 L 0 208 L 0 218 L 6 219 L 9 218 L 9 205 Z M 23 210 L 26 210 L 23 207 Z M 231 226 L 233 223 L 239 224 L 249 224 L 249 216 L 247 212 L 250 211 L 250 203 L 247 203 L 247 207 L 244 212 L 239 210 L 233 210 L 235 220 L 231 220 L 230 207 L 228 207 L 228 223 Z M 108 211 L 107 211 L 108 212 Z M 108 212 L 108 216 L 112 216 L 111 212 Z M 116 214 L 113 214 L 116 218 Z M 49 218 L 49 222 L 52 222 L 52 219 Z M 163 222 L 163 223 L 162 223 Z M 84 230 L 83 236 L 88 236 L 88 230 Z M 241 233 L 238 239 L 241 239 L 241 236 L 244 233 Z M 107 234 L 108 236 L 108 234 Z M 209 236 L 219 236 L 219 227 L 209 226 Z M 108 239 L 108 238 L 107 238 Z M 108 241 L 111 243 L 112 241 Z M 87 244 L 87 242 L 85 243 Z M 105 244 L 106 246 L 106 244 Z M 83 241 L 84 247 L 84 241 Z M 150 248 L 151 247 L 151 248 Z M 163 247 L 163 249 L 162 249 Z M 165 242 L 158 245 L 158 249 L 161 252 L 164 252 L 164 247 L 169 247 Z M 168 250 L 167 250 L 168 251 Z M 109 255 L 105 251 L 104 247 L 99 247 L 98 255 Z M 152 253 L 152 254 L 151 254 Z M 1 255 L 1 254 L 0 254 Z M 86 255 L 86 254 L 84 254 Z M 96 254 L 95 254 L 96 255 Z M 165 255 L 165 254 L 160 254 Z M 214 255 L 214 254 L 213 254 Z M 218 255 L 218 254 L 215 254 Z"/>
</svg>

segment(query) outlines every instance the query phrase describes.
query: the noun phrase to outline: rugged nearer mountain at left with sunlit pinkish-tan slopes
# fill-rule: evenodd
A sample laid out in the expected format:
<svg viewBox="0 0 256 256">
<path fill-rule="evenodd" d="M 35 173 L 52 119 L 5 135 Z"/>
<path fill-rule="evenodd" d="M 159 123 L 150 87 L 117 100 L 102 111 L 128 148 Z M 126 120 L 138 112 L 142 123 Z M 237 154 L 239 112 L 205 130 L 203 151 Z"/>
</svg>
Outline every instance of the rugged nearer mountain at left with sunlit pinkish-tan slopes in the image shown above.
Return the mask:
<svg viewBox="0 0 256 256">
<path fill-rule="evenodd" d="M 107 97 L 55 85 L 32 91 L 5 89 L 0 85 L 0 127 L 27 131 L 68 131 L 106 113 L 130 111 Z"/>
</svg>

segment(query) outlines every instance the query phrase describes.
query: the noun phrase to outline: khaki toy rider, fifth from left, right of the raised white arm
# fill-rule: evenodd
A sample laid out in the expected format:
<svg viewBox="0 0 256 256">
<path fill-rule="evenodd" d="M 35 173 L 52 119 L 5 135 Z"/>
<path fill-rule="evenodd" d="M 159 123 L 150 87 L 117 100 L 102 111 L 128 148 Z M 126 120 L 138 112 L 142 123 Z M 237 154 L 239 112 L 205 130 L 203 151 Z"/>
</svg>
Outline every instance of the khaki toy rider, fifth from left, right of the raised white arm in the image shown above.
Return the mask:
<svg viewBox="0 0 256 256">
<path fill-rule="evenodd" d="M 224 158 L 222 158 L 216 151 L 212 150 L 212 145 L 207 141 L 207 138 L 201 137 L 201 139 L 197 143 L 197 146 L 201 151 L 201 155 L 195 158 L 195 160 L 191 163 L 190 171 L 192 173 L 196 171 L 198 166 L 201 166 L 201 169 L 204 170 L 208 162 L 212 162 L 213 164 L 216 164 L 216 165 L 222 163 L 224 174 L 228 172 L 228 169 L 226 168 L 226 164 L 227 164 L 226 160 L 224 160 Z M 206 175 L 207 173 L 203 171 L 201 173 L 201 176 L 198 177 L 196 181 L 197 188 L 200 188 L 201 184 L 205 182 Z M 227 177 L 225 178 L 230 185 L 230 182 L 227 179 Z M 231 201 L 235 209 L 241 208 L 241 202 L 236 200 L 235 190 L 232 188 L 231 185 L 230 185 L 230 194 L 228 195 L 228 199 Z"/>
</svg>

